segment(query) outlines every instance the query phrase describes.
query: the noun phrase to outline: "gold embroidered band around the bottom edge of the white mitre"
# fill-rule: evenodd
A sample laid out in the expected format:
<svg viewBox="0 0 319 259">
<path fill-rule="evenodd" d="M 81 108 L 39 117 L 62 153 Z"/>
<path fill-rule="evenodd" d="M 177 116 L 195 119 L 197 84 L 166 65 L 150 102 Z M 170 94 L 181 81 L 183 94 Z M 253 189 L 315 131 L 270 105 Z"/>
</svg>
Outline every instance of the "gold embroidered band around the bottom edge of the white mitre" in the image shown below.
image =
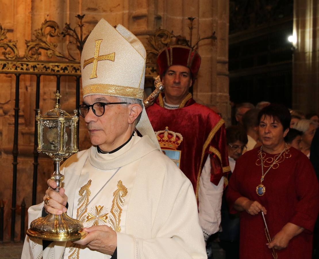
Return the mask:
<svg viewBox="0 0 319 259">
<path fill-rule="evenodd" d="M 93 84 L 83 88 L 83 97 L 86 95 L 115 95 L 143 100 L 144 90 L 129 86 Z"/>
</svg>

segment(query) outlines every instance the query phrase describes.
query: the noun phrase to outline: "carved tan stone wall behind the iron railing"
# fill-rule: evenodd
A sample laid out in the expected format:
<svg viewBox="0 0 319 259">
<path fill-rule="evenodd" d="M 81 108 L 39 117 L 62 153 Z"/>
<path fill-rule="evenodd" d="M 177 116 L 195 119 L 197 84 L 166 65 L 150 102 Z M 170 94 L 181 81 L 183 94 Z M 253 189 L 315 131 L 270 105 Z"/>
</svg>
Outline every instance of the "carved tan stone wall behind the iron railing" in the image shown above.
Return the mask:
<svg viewBox="0 0 319 259">
<path fill-rule="evenodd" d="M 112 25 L 121 23 L 136 34 L 146 45 L 147 38 L 158 27 L 174 31 L 174 34 L 189 36 L 187 17 L 197 17 L 192 38 L 211 35 L 216 32 L 217 40 L 199 44 L 202 65 L 194 86 L 194 98 L 200 103 L 216 104 L 227 124 L 230 124 L 228 95 L 228 0 L 0 0 L 0 23 L 8 29 L 8 39 L 18 41 L 20 56 L 24 55 L 25 40 L 34 38 L 34 30 L 46 20 L 56 21 L 60 29 L 65 23 L 75 27 L 77 14 L 85 14 L 84 34 L 89 33 L 99 19 L 104 18 Z M 59 42 L 57 50 L 66 52 L 70 37 Z M 55 39 L 51 40 L 55 42 Z M 0 50 L 2 51 L 2 50 Z M 79 59 L 78 50 L 70 48 L 70 53 Z M 0 54 L 0 59 L 3 58 Z M 48 60 L 42 52 L 41 60 Z M 55 60 L 55 58 L 52 58 Z M 51 59 L 51 60 L 52 60 Z M 75 108 L 75 77 L 62 77 L 61 105 L 72 114 Z M 55 76 L 40 78 L 40 109 L 52 109 L 56 91 Z M 15 75 L 0 74 L 0 200 L 5 205 L 4 240 L 10 236 L 11 186 L 12 186 L 12 146 L 14 131 Z M 17 238 L 20 231 L 19 205 L 24 199 L 26 207 L 31 206 L 33 178 L 33 133 L 35 108 L 35 75 L 20 76 L 19 96 L 19 157 L 17 182 Z M 81 87 L 82 88 L 82 87 Z M 80 93 L 82 96 L 82 92 Z M 82 102 L 82 99 L 80 100 Z M 89 139 L 83 118 L 80 118 L 79 148 L 89 147 Z M 52 161 L 45 156 L 39 158 L 37 202 L 41 202 L 46 181 L 53 171 Z M 26 219 L 27 222 L 27 219 Z M 27 224 L 26 224 L 27 225 Z"/>
</svg>

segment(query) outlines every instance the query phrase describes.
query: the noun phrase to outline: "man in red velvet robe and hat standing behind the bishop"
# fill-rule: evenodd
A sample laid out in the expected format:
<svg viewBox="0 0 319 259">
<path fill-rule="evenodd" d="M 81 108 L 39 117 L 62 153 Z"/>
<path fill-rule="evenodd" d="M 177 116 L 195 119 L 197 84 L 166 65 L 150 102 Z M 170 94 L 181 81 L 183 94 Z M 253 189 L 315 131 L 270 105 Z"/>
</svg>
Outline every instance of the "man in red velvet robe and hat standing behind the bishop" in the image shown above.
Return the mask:
<svg viewBox="0 0 319 259">
<path fill-rule="evenodd" d="M 201 58 L 196 50 L 170 46 L 157 58 L 164 85 L 146 109 L 159 144 L 193 184 L 205 240 L 218 232 L 223 175 L 230 171 L 224 120 L 189 93 Z"/>
</svg>

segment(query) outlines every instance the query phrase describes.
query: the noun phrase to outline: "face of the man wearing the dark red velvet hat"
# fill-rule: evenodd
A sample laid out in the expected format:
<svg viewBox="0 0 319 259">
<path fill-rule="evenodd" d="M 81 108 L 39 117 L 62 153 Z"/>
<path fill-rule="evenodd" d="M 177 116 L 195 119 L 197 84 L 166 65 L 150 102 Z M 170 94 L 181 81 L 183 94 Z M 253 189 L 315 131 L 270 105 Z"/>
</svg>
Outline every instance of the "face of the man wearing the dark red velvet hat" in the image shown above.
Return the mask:
<svg viewBox="0 0 319 259">
<path fill-rule="evenodd" d="M 186 66 L 170 66 L 162 78 L 165 87 L 165 96 L 169 99 L 184 99 L 192 85 L 190 70 Z"/>
</svg>

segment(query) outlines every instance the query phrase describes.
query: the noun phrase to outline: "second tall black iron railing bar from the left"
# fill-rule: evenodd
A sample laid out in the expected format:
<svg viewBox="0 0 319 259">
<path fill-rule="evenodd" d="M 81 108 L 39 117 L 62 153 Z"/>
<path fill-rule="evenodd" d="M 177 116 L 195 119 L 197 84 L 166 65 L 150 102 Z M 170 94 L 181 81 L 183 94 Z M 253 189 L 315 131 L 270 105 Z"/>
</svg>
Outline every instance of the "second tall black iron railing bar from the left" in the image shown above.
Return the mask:
<svg viewBox="0 0 319 259">
<path fill-rule="evenodd" d="M 37 75 L 36 94 L 35 94 L 35 116 L 40 106 L 40 76 Z M 34 148 L 33 148 L 33 183 L 32 183 L 32 205 L 36 204 L 37 199 L 37 181 L 38 181 L 38 134 L 37 134 L 37 123 L 34 119 Z"/>
</svg>

